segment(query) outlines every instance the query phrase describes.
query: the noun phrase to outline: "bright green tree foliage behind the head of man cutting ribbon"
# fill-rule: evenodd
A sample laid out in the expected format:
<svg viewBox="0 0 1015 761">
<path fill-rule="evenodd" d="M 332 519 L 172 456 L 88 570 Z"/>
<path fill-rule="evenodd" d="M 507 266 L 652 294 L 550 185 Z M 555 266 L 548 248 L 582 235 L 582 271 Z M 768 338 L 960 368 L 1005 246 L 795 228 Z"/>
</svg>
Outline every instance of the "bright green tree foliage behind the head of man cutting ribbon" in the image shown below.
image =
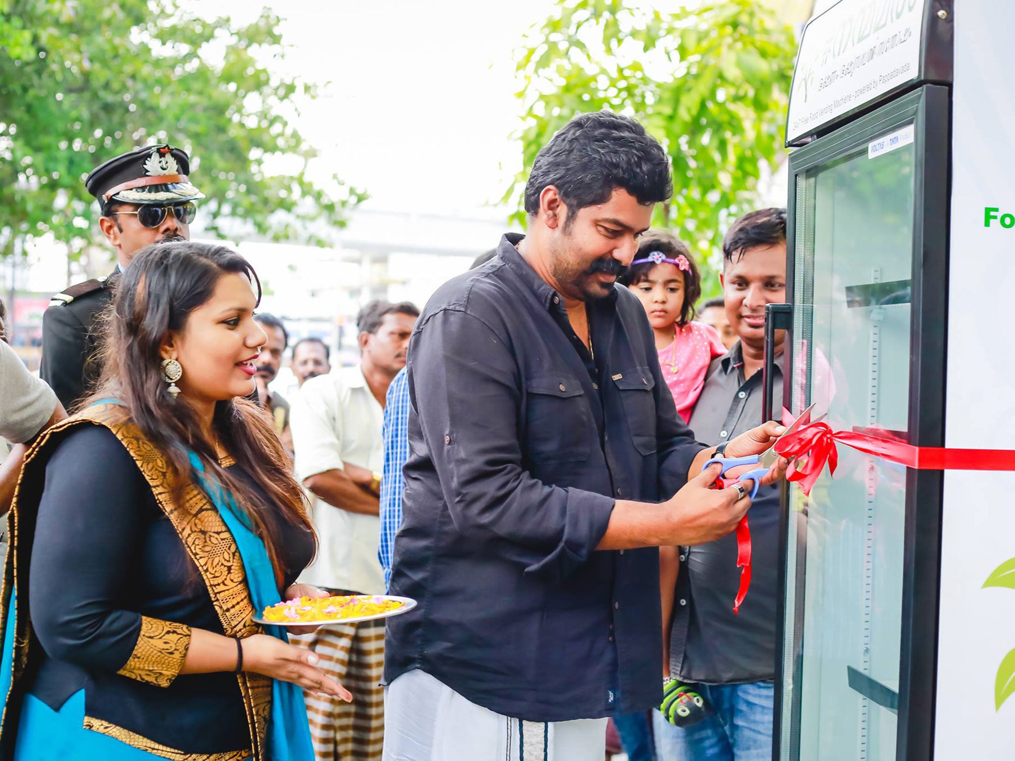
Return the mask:
<svg viewBox="0 0 1015 761">
<path fill-rule="evenodd" d="M 724 227 L 757 202 L 762 165 L 785 158 L 796 40 L 755 0 L 674 12 L 658 5 L 557 0 L 520 51 L 525 165 L 574 114 L 608 109 L 637 119 L 673 161 L 673 200 L 654 222 L 715 264 Z M 526 179 L 505 200 L 521 206 Z"/>
</svg>

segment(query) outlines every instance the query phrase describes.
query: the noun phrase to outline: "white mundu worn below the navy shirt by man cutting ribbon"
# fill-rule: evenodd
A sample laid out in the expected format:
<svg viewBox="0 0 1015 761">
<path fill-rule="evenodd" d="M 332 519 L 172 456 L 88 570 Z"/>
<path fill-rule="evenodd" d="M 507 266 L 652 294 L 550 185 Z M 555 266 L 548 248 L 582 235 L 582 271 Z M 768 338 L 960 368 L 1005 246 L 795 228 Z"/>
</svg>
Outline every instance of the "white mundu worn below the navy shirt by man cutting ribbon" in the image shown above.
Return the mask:
<svg viewBox="0 0 1015 761">
<path fill-rule="evenodd" d="M 385 692 L 384 761 L 602 761 L 606 719 L 522 721 L 418 669 Z"/>
</svg>

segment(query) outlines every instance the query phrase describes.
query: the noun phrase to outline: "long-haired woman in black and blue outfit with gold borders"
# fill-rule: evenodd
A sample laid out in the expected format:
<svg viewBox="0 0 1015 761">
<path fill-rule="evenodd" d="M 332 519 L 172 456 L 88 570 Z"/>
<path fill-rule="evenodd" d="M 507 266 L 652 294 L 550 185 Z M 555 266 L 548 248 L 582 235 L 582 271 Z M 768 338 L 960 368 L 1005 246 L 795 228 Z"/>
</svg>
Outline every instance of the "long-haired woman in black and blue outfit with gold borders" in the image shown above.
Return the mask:
<svg viewBox="0 0 1015 761">
<path fill-rule="evenodd" d="M 221 247 L 149 247 L 124 273 L 100 388 L 15 497 L 0 756 L 313 761 L 300 688 L 349 699 L 251 621 L 323 595 L 293 583 L 315 549 L 302 491 L 244 399 L 259 300 Z"/>
</svg>

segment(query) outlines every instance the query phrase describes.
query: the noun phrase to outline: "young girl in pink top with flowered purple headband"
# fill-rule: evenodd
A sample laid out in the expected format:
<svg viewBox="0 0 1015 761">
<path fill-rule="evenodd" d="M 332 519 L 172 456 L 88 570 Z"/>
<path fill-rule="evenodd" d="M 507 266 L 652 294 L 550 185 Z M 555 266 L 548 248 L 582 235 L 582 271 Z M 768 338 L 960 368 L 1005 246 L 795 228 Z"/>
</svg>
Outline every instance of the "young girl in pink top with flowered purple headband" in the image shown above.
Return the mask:
<svg viewBox="0 0 1015 761">
<path fill-rule="evenodd" d="M 701 279 L 687 247 L 665 230 L 649 230 L 620 282 L 641 299 L 677 414 L 690 420 L 708 364 L 726 353 L 716 329 L 693 323 Z"/>
</svg>

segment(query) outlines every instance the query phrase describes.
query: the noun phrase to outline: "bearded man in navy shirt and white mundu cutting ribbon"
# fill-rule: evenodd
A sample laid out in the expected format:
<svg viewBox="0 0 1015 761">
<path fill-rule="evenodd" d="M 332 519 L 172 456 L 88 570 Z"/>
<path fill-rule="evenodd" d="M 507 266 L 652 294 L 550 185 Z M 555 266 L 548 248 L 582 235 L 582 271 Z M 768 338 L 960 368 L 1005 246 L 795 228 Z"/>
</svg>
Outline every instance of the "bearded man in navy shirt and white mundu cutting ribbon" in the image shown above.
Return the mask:
<svg viewBox="0 0 1015 761">
<path fill-rule="evenodd" d="M 578 116 L 535 160 L 528 234 L 419 318 L 391 592 L 420 605 L 388 624 L 386 760 L 587 761 L 607 716 L 659 704 L 655 547 L 710 542 L 750 502 L 708 490 L 716 447 L 677 418 L 645 309 L 615 284 L 671 192 L 640 125 Z"/>
</svg>

